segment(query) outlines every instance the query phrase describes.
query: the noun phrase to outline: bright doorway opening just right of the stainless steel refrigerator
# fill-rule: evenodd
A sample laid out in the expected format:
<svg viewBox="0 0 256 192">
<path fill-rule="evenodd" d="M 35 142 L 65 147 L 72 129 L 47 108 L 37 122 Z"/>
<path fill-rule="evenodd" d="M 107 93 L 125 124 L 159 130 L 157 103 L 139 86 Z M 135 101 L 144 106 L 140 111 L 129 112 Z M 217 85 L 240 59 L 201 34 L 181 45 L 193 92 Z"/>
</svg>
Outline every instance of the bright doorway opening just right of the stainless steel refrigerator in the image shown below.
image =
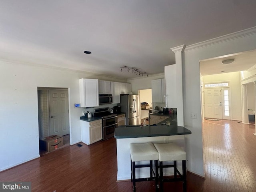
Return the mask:
<svg viewBox="0 0 256 192">
<path fill-rule="evenodd" d="M 152 112 L 152 89 L 141 89 L 138 90 L 140 95 L 140 114 L 141 123 L 146 122 L 149 124 L 149 114 Z"/>
</svg>

